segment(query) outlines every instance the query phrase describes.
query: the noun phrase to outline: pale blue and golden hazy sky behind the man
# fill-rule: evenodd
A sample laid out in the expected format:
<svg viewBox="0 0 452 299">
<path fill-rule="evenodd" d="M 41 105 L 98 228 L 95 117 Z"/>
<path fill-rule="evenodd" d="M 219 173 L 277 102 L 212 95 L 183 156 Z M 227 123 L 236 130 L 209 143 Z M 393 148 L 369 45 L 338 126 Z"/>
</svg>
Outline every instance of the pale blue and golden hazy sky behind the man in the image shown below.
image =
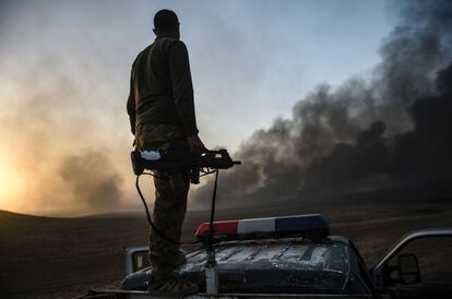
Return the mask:
<svg viewBox="0 0 452 299">
<path fill-rule="evenodd" d="M 233 153 L 317 85 L 371 76 L 393 27 L 384 1 L 1 1 L 0 210 L 136 203 L 126 100 L 159 9 L 181 23 L 201 139 Z"/>
</svg>

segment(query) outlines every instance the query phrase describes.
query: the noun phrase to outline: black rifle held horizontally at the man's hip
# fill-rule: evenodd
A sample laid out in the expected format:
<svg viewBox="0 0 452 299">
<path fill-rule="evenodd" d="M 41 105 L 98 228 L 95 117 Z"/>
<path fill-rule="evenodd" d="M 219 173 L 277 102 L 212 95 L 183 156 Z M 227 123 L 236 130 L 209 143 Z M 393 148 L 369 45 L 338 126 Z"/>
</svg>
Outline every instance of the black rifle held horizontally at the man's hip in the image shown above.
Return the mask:
<svg viewBox="0 0 452 299">
<path fill-rule="evenodd" d="M 207 151 L 199 156 L 171 148 L 142 152 L 134 150 L 131 159 L 136 176 L 142 175 L 145 169 L 171 171 L 185 168 L 190 170 L 192 183 L 200 182 L 200 172 L 211 174 L 212 169 L 228 169 L 241 164 L 239 160 L 233 160 L 226 150 Z"/>
</svg>

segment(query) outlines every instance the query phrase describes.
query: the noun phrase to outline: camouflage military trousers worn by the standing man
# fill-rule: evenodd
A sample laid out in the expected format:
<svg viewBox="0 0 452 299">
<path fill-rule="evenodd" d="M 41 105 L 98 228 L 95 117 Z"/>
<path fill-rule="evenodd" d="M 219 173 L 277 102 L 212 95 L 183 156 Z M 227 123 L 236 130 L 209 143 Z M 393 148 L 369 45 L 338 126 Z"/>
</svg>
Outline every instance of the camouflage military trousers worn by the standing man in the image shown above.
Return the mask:
<svg viewBox="0 0 452 299">
<path fill-rule="evenodd" d="M 177 127 L 147 125 L 136 134 L 139 150 L 188 151 L 187 140 Z M 168 171 L 154 171 L 155 203 L 153 222 L 165 237 L 180 242 L 182 224 L 187 211 L 190 189 L 188 169 L 175 168 Z M 152 279 L 170 276 L 180 261 L 180 246 L 162 237 L 150 228 L 150 264 Z"/>
</svg>

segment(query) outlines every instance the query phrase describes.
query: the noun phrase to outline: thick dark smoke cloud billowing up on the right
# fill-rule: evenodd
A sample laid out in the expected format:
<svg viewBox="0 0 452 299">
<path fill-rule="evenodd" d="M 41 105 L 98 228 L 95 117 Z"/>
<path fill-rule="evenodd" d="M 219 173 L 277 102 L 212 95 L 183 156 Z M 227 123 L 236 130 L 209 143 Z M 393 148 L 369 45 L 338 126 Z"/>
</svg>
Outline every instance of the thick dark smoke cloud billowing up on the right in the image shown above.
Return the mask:
<svg viewBox="0 0 452 299">
<path fill-rule="evenodd" d="M 452 5 L 394 1 L 390 9 L 400 21 L 372 77 L 320 85 L 292 119 L 255 131 L 234 155 L 242 165 L 221 177 L 228 204 L 451 178 Z M 204 203 L 210 192 L 200 188 L 195 199 Z"/>
</svg>

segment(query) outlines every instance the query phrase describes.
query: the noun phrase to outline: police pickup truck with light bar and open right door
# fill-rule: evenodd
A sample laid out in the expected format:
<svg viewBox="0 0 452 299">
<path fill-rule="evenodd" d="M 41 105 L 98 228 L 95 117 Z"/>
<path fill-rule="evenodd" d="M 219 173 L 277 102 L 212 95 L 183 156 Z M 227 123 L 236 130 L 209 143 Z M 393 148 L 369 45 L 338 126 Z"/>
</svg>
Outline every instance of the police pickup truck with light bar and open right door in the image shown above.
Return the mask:
<svg viewBox="0 0 452 299">
<path fill-rule="evenodd" d="M 185 252 L 187 263 L 177 270 L 201 288 L 188 298 L 452 298 L 450 284 L 423 284 L 417 256 L 403 252 L 419 239 L 451 238 L 452 227 L 405 235 L 370 268 L 350 240 L 329 235 L 319 214 L 218 222 L 214 231 L 217 292 L 206 292 L 207 250 L 200 247 Z M 197 237 L 207 232 L 209 224 L 202 224 Z M 147 250 L 126 249 L 120 289 L 93 289 L 81 299 L 153 298 L 146 291 Z"/>
</svg>

